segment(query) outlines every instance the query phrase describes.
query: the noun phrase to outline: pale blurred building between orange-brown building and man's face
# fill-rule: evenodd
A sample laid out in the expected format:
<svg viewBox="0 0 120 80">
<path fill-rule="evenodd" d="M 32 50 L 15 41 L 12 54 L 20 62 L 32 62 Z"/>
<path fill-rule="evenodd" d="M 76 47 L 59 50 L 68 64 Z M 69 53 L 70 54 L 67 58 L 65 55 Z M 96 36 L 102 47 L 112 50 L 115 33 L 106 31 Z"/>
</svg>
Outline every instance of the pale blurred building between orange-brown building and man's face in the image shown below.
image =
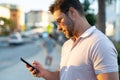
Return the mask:
<svg viewBox="0 0 120 80">
<path fill-rule="evenodd" d="M 33 27 L 46 27 L 51 21 L 53 21 L 53 16 L 48 11 L 30 11 L 26 13 L 26 26 L 28 29 Z"/>
</svg>

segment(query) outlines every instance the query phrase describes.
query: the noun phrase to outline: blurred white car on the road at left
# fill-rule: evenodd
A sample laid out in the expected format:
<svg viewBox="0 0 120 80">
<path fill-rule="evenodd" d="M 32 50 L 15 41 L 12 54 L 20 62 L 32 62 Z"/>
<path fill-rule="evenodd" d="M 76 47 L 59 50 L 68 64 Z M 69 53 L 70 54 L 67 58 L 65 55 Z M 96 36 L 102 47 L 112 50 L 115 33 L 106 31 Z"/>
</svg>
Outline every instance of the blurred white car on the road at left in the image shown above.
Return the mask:
<svg viewBox="0 0 120 80">
<path fill-rule="evenodd" d="M 13 33 L 10 34 L 8 38 L 8 43 L 10 45 L 17 45 L 17 44 L 23 44 L 23 39 L 20 33 Z"/>
</svg>

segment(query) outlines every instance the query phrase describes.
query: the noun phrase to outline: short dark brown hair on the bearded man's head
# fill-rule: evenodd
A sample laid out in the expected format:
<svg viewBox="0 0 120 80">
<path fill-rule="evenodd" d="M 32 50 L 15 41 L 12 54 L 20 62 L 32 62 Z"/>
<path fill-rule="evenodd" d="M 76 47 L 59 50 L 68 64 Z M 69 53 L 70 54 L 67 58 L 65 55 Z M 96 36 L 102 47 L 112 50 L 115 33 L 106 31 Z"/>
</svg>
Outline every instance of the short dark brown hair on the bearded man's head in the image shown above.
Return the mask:
<svg viewBox="0 0 120 80">
<path fill-rule="evenodd" d="M 75 8 L 80 15 L 84 16 L 84 9 L 79 0 L 55 0 L 55 2 L 49 7 L 49 11 L 53 14 L 54 11 L 60 10 L 66 13 L 70 7 Z"/>
</svg>

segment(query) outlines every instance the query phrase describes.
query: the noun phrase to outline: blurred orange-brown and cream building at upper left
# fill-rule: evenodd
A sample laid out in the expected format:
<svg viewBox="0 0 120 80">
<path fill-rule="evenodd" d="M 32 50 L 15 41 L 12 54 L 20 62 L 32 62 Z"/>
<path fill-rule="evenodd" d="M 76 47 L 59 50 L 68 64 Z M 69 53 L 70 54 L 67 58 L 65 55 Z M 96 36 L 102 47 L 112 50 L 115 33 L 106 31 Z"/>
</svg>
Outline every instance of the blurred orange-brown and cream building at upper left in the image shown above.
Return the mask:
<svg viewBox="0 0 120 80">
<path fill-rule="evenodd" d="M 18 31 L 21 32 L 23 30 L 23 27 L 25 26 L 25 14 L 22 11 L 22 9 L 17 5 L 12 4 L 0 4 L 4 7 L 4 10 L 2 10 L 1 13 L 9 15 L 10 20 L 13 22 L 13 26 L 11 29 L 11 32 Z M 9 12 L 5 12 L 5 10 L 8 9 Z M 6 18 L 5 16 L 3 16 Z"/>
</svg>

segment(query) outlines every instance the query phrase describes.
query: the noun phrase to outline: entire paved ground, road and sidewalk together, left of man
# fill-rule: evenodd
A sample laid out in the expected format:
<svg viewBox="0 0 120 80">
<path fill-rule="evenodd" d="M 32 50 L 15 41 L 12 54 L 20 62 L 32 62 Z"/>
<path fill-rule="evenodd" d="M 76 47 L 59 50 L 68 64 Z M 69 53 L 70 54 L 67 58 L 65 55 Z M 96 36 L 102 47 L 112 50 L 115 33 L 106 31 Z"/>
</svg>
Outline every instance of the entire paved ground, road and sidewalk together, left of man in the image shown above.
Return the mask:
<svg viewBox="0 0 120 80">
<path fill-rule="evenodd" d="M 53 64 L 50 70 L 59 69 L 61 46 L 55 47 Z M 59 52 L 59 53 L 58 53 Z M 18 46 L 0 47 L 0 80 L 35 80 L 34 76 L 26 69 L 25 64 L 20 61 L 23 57 L 28 62 L 39 61 L 45 68 L 45 50 L 41 40 Z M 40 78 L 40 80 L 44 80 Z"/>
</svg>

